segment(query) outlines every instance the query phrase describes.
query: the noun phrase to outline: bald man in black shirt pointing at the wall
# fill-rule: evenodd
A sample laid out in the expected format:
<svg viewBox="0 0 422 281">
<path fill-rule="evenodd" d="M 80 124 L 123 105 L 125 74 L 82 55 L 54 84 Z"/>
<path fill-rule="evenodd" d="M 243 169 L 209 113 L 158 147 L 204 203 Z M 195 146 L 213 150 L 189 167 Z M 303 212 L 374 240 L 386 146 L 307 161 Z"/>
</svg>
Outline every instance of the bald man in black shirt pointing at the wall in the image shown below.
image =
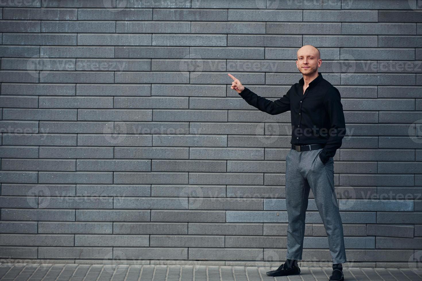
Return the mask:
<svg viewBox="0 0 422 281">
<path fill-rule="evenodd" d="M 346 262 L 343 225 L 334 191 L 334 161 L 341 147 L 346 126 L 340 92 L 318 72 L 322 60 L 317 48 L 304 45 L 298 50 L 296 66 L 303 74 L 281 99 L 271 101 L 258 96 L 230 73 L 230 88 L 250 105 L 271 115 L 290 110 L 292 148 L 286 156 L 287 259 L 268 276 L 300 274 L 305 233 L 305 212 L 309 190 L 327 232 L 333 273 L 330 281 L 343 281 L 342 263 Z"/>
</svg>

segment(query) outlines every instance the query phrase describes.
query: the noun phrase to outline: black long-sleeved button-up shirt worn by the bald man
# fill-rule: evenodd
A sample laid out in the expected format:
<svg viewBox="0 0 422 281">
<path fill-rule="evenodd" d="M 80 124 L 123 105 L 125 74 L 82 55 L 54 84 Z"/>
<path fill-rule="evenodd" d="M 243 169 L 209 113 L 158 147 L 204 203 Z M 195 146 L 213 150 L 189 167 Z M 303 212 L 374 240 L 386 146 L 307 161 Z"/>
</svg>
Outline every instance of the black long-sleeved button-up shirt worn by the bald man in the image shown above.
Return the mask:
<svg viewBox="0 0 422 281">
<path fill-rule="evenodd" d="M 346 134 L 340 92 L 330 82 L 318 77 L 303 93 L 303 77 L 281 99 L 271 101 L 245 87 L 239 95 L 250 105 L 271 115 L 290 110 L 292 145 L 325 144 L 319 158 L 326 163 L 341 147 Z"/>
</svg>

